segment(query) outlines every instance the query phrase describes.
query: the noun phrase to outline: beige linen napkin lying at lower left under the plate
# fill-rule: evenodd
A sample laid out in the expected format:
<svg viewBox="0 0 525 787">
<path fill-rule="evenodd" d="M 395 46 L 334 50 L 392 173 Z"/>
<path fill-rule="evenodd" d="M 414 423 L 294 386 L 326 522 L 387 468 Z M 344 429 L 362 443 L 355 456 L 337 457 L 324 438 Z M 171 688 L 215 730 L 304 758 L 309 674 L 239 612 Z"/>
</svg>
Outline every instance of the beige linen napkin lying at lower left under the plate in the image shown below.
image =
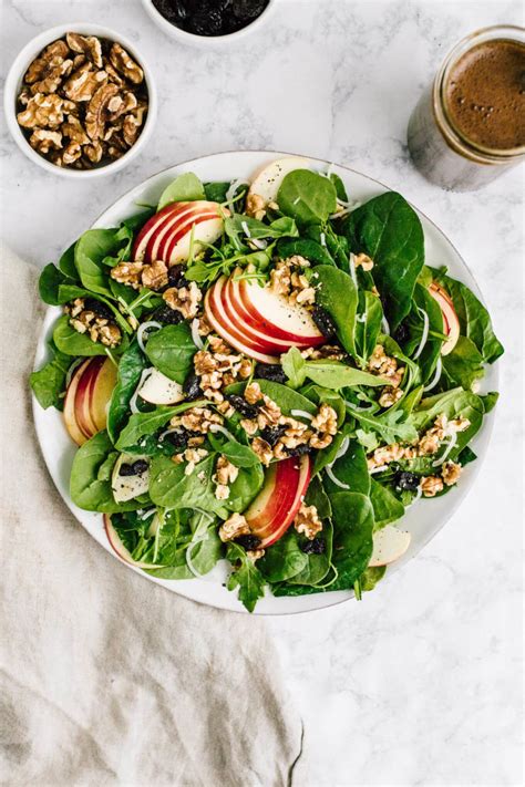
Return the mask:
<svg viewBox="0 0 525 787">
<path fill-rule="evenodd" d="M 11 785 L 287 785 L 300 750 L 264 621 L 120 565 L 59 497 L 27 380 L 37 271 L 1 253 L 2 779 Z"/>
</svg>

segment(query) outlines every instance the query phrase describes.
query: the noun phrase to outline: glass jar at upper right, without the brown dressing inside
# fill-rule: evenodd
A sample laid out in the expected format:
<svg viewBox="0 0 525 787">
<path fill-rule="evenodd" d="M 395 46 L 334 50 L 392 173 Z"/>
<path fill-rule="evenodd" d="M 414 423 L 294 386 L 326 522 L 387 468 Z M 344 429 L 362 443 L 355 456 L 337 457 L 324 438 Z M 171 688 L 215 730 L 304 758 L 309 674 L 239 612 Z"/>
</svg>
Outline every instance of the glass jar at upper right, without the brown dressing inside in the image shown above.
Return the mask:
<svg viewBox="0 0 525 787">
<path fill-rule="evenodd" d="M 471 33 L 449 53 L 409 121 L 408 143 L 412 160 L 428 180 L 442 188 L 454 191 L 476 190 L 525 158 L 525 145 L 491 149 L 469 139 L 447 111 L 446 87 L 454 66 L 474 46 L 491 41 L 518 43 L 525 54 L 523 28 L 496 25 Z"/>
</svg>

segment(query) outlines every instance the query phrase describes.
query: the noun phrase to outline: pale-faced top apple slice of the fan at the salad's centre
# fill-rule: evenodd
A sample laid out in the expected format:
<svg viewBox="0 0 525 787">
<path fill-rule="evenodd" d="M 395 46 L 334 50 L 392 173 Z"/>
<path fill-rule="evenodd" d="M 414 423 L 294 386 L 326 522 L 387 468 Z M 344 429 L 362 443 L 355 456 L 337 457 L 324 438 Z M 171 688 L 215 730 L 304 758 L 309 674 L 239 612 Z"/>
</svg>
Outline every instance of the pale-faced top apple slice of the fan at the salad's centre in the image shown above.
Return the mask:
<svg viewBox="0 0 525 787">
<path fill-rule="evenodd" d="M 236 284 L 238 290 L 235 290 Z M 236 293 L 259 330 L 269 336 L 289 342 L 290 346 L 317 346 L 326 342 L 308 309 L 300 303 L 290 303 L 268 286 L 260 287 L 256 281 L 241 279 L 234 282 L 234 297 Z"/>
</svg>

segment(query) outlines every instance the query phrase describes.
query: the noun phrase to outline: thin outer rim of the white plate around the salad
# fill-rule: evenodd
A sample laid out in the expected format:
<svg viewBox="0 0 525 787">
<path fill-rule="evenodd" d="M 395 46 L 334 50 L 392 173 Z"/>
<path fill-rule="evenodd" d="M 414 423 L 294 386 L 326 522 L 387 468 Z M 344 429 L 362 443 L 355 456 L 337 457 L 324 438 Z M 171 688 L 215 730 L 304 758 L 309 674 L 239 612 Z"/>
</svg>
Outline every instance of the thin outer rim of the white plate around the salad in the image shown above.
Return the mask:
<svg viewBox="0 0 525 787">
<path fill-rule="evenodd" d="M 104 210 L 91 222 L 91 225 L 87 229 L 94 229 L 94 228 L 102 227 L 103 226 L 103 217 L 107 213 L 110 213 L 112 209 L 114 209 L 119 203 L 127 200 L 128 204 L 133 204 L 132 195 L 135 191 L 146 189 L 156 179 L 158 179 L 159 177 L 162 177 L 163 175 L 167 174 L 168 172 L 171 172 L 173 169 L 191 166 L 192 164 L 206 162 L 206 159 L 220 158 L 224 156 L 238 156 L 239 154 L 247 155 L 247 156 L 266 155 L 266 154 L 268 154 L 268 156 L 279 156 L 279 157 L 298 156 L 298 157 L 306 158 L 306 159 L 308 159 L 308 162 L 315 163 L 316 165 L 333 166 L 333 167 L 337 167 L 338 169 L 342 169 L 344 172 L 351 173 L 354 176 L 364 178 L 369 183 L 378 186 L 378 188 L 381 189 L 381 193 L 395 191 L 395 189 L 391 188 L 390 186 L 382 183 L 381 180 L 370 177 L 369 175 L 366 175 L 364 173 L 362 173 L 358 169 L 354 169 L 354 168 L 349 167 L 343 164 L 338 164 L 337 162 L 330 162 L 328 159 L 318 158 L 316 156 L 310 156 L 310 155 L 306 155 L 306 154 L 298 154 L 298 153 L 288 153 L 288 152 L 284 152 L 284 151 L 272 151 L 272 149 L 220 151 L 218 153 L 209 153 L 209 154 L 206 154 L 203 156 L 194 156 L 192 158 L 172 164 L 167 167 L 163 167 L 162 169 L 153 173 L 147 178 L 144 178 L 138 184 L 135 184 L 135 186 L 132 186 L 126 191 L 121 194 L 116 199 L 114 199 L 111 203 L 111 205 L 107 205 L 104 208 Z M 445 235 L 445 232 L 431 218 L 429 218 L 429 216 L 426 216 L 425 213 L 423 213 L 420 208 L 418 208 L 413 203 L 411 203 L 410 200 L 406 200 L 406 201 L 409 201 L 411 207 L 415 210 L 415 213 L 422 219 L 424 219 L 424 221 L 429 222 L 429 225 L 433 228 L 434 232 L 436 232 L 437 236 L 440 236 L 440 238 L 443 241 L 445 241 L 446 246 L 452 251 L 452 255 L 455 256 L 456 260 L 459 261 L 460 267 L 463 266 L 464 270 L 466 271 L 467 278 L 471 280 L 469 286 L 471 287 L 471 289 L 474 290 L 475 294 L 480 298 L 482 303 L 485 304 L 483 293 L 480 289 L 480 286 L 477 283 L 471 268 L 469 267 L 469 265 L 466 263 L 466 261 L 464 260 L 463 256 L 460 253 L 457 248 L 454 246 L 454 244 L 450 240 L 447 235 Z M 423 227 L 423 231 L 424 231 L 424 227 Z M 41 323 L 41 329 L 40 329 L 40 333 L 39 333 L 39 338 L 38 338 L 38 342 L 37 342 L 37 350 L 35 350 L 35 354 L 34 354 L 33 369 L 38 369 L 38 366 L 40 365 L 40 362 L 41 362 L 40 355 L 42 354 L 42 345 L 45 346 L 45 341 L 47 341 L 47 336 L 48 336 L 49 329 L 51 325 L 51 320 L 54 321 L 55 315 L 59 313 L 59 309 L 60 309 L 59 307 L 48 306 L 48 308 L 44 312 L 44 318 Z M 494 385 L 495 385 L 495 387 L 498 389 L 500 387 L 500 367 L 497 365 L 496 366 L 491 365 L 491 370 L 493 372 Z M 84 528 L 84 530 L 86 530 L 86 532 L 93 540 L 97 541 L 100 543 L 100 546 L 103 547 L 105 549 L 105 551 L 110 552 L 119 562 L 123 563 L 127 569 L 131 569 L 135 573 L 140 574 L 146 581 L 152 581 L 155 584 L 159 584 L 159 586 L 164 587 L 166 590 L 168 590 L 171 592 L 175 592 L 176 594 L 182 596 L 183 598 L 186 598 L 195 603 L 200 603 L 206 607 L 222 609 L 222 610 L 235 612 L 238 614 L 249 614 L 247 612 L 247 610 L 240 604 L 240 602 L 238 602 L 237 594 L 235 592 L 230 592 L 229 594 L 231 597 L 231 601 L 234 601 L 234 599 L 235 599 L 235 602 L 237 602 L 236 607 L 223 604 L 220 602 L 217 603 L 217 601 L 214 599 L 210 599 L 210 600 L 195 599 L 192 596 L 188 596 L 186 592 L 184 592 L 184 589 L 179 589 L 181 580 L 162 580 L 162 579 L 157 579 L 156 577 L 154 577 L 152 574 L 146 574 L 144 571 L 140 570 L 138 568 L 122 560 L 122 558 L 120 558 L 116 555 L 116 552 L 111 548 L 110 543 L 101 542 L 96 538 L 96 536 L 90 530 L 87 525 L 84 521 L 82 521 L 82 519 L 80 519 L 79 515 L 75 511 L 75 507 L 74 507 L 73 501 L 71 500 L 71 497 L 69 495 L 64 496 L 62 494 L 62 489 L 60 488 L 59 484 L 56 483 L 56 480 L 54 478 L 54 474 L 51 470 L 50 465 L 48 464 L 47 454 L 44 451 L 45 437 L 42 433 L 43 432 L 42 418 L 43 418 L 44 413 L 47 411 L 42 410 L 42 407 L 40 406 L 40 404 L 37 401 L 37 397 L 34 396 L 34 394 L 31 394 L 31 398 L 32 398 L 33 424 L 34 424 L 37 437 L 39 441 L 40 452 L 41 452 L 42 457 L 44 459 L 47 470 L 48 470 L 49 475 L 51 476 L 51 479 L 52 479 L 53 484 L 55 485 L 56 490 L 58 490 L 59 495 L 61 496 L 62 500 L 64 501 L 64 504 L 66 505 L 69 510 L 72 512 L 72 515 L 74 516 L 75 520 Z M 456 491 L 459 494 L 457 494 L 457 496 L 454 496 L 451 499 L 451 505 L 446 508 L 446 512 L 442 516 L 437 529 L 433 532 L 429 532 L 429 535 L 422 539 L 421 546 L 419 547 L 416 552 L 411 555 L 406 560 L 400 561 L 399 567 L 395 567 L 395 568 L 392 567 L 391 570 L 387 572 L 385 580 L 389 580 L 398 570 L 403 568 L 405 565 L 411 562 L 416 556 L 419 556 L 421 553 L 421 551 L 429 545 L 429 542 L 435 536 L 437 536 L 439 532 L 441 532 L 443 530 L 445 525 L 451 520 L 453 515 L 456 512 L 456 510 L 463 504 L 463 501 L 465 500 L 467 495 L 472 491 L 473 487 L 475 486 L 476 478 L 477 478 L 477 476 L 481 472 L 481 468 L 484 464 L 490 444 L 492 442 L 494 424 L 495 424 L 495 412 L 493 411 L 493 412 L 488 413 L 487 416 L 485 417 L 483 427 L 478 433 L 480 435 L 482 435 L 482 434 L 484 435 L 486 445 L 485 445 L 484 451 L 481 453 L 481 455 L 477 456 L 477 459 L 474 463 L 474 467 L 471 466 L 469 485 L 464 489 L 461 489 L 460 487 L 456 489 Z M 93 514 L 94 516 L 102 517 L 102 515 L 99 515 L 97 512 L 85 511 L 84 514 Z M 401 521 L 402 520 L 400 520 L 400 524 L 401 524 Z M 192 582 L 192 584 L 193 584 L 195 581 L 198 581 L 198 580 L 186 580 L 186 581 Z M 200 580 L 200 581 L 206 582 L 209 587 L 214 587 L 213 582 L 209 582 L 206 580 Z M 384 586 L 385 581 L 383 580 L 383 582 L 381 584 Z M 330 609 L 332 607 L 338 607 L 340 604 L 348 603 L 354 597 L 354 593 L 351 590 L 333 591 L 333 596 L 336 596 L 336 594 L 338 597 L 341 594 L 342 598 L 333 599 L 331 602 L 328 601 L 331 596 L 330 592 L 320 594 L 320 598 L 326 599 L 327 603 L 311 608 L 311 609 L 297 609 L 297 610 L 278 610 L 277 609 L 277 610 L 258 611 L 258 609 L 256 607 L 251 614 L 258 615 L 258 617 L 286 617 L 286 615 L 292 615 L 292 614 L 307 614 L 307 613 L 322 612 L 322 611 Z M 277 601 L 277 597 L 272 597 L 271 592 L 269 594 L 267 594 L 265 598 L 272 598 Z M 296 598 L 297 599 L 308 599 L 308 598 L 310 598 L 310 596 L 302 596 L 302 597 L 296 597 Z"/>
</svg>

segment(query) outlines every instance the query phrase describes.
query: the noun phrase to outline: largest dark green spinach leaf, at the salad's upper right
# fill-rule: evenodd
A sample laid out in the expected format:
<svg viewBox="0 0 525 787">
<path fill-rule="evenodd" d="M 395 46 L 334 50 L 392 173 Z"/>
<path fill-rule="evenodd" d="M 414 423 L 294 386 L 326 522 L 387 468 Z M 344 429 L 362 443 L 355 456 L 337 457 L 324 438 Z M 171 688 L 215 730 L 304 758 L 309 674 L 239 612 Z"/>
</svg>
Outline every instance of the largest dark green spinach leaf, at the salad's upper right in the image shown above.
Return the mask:
<svg viewBox="0 0 525 787">
<path fill-rule="evenodd" d="M 421 221 L 400 194 L 390 191 L 353 210 L 344 231 L 353 250 L 364 251 L 373 259 L 372 277 L 394 331 L 410 311 L 424 263 Z"/>
</svg>

